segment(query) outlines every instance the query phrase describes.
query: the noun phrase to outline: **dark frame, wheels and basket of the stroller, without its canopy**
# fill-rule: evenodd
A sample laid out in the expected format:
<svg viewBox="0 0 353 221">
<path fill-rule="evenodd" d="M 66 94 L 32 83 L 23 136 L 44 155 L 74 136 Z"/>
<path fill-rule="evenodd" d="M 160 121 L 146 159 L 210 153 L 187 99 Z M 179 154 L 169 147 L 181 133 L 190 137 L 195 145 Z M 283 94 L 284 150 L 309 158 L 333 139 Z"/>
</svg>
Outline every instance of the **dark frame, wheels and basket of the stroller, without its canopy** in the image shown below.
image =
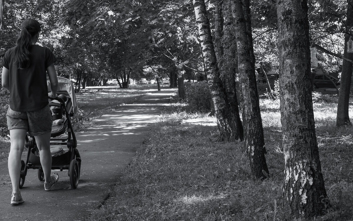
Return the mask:
<svg viewBox="0 0 353 221">
<path fill-rule="evenodd" d="M 70 82 L 71 83 L 71 82 Z M 64 94 L 65 92 L 58 92 L 58 95 Z M 68 112 L 64 99 L 60 97 L 50 98 L 52 100 L 57 100 L 59 103 L 50 102 L 49 107 L 55 106 L 62 109 L 63 114 L 66 114 L 66 119 L 64 123 L 67 124 L 67 136 L 56 138 L 58 133 L 51 133 L 50 145 L 66 145 L 68 151 L 58 155 L 52 156 L 52 170 L 68 170 L 68 176 L 70 176 L 70 185 L 73 189 L 76 189 L 78 186 L 78 181 L 80 177 L 81 170 L 81 157 L 79 151 L 77 150 L 77 140 L 72 127 L 71 119 L 72 113 Z M 67 121 L 67 122 L 66 122 Z M 66 127 L 64 128 L 64 130 Z M 26 161 L 21 160 L 21 172 L 20 172 L 20 182 L 19 187 L 22 188 L 25 182 L 28 169 L 37 169 L 38 179 L 40 181 L 44 180 L 44 173 L 42 165 L 40 164 L 40 157 L 36 156 L 35 153 L 38 153 L 38 148 L 34 136 L 31 136 L 27 133 L 25 137 L 25 147 L 28 148 Z"/>
</svg>

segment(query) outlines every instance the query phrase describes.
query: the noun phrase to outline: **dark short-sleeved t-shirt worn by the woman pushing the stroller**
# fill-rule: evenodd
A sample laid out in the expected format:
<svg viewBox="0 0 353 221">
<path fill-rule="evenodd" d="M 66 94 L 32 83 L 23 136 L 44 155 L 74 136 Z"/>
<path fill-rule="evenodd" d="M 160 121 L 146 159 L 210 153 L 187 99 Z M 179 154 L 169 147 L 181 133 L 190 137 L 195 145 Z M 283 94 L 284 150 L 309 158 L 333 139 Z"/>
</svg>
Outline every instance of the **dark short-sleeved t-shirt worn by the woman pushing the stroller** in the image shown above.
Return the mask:
<svg viewBox="0 0 353 221">
<path fill-rule="evenodd" d="M 15 47 L 1 61 L 9 70 L 10 108 L 14 111 L 40 110 L 48 104 L 47 68 L 56 61 L 49 48 L 31 45 L 30 66 L 19 69 L 15 64 Z"/>
</svg>

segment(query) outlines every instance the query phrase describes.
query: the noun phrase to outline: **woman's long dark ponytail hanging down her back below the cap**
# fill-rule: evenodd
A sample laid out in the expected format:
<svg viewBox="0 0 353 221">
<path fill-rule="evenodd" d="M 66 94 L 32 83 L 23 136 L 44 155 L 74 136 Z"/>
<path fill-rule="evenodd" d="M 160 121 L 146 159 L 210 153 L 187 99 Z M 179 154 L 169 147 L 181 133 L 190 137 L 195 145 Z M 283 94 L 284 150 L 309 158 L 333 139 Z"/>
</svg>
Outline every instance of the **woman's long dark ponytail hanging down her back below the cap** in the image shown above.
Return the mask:
<svg viewBox="0 0 353 221">
<path fill-rule="evenodd" d="M 36 33 L 31 33 L 27 28 L 23 28 L 18 35 L 17 45 L 15 47 L 15 60 L 19 69 L 26 69 L 30 65 L 29 47 L 32 45 L 32 36 Z"/>
</svg>

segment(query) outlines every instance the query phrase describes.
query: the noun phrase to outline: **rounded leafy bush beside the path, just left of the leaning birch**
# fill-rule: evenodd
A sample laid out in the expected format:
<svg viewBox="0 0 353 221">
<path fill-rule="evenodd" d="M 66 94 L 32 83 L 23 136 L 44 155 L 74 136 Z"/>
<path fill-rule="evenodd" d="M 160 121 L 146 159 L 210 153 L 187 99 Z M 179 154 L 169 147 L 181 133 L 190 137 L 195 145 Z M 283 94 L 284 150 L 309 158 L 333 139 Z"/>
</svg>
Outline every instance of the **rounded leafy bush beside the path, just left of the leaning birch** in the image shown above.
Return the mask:
<svg viewBox="0 0 353 221">
<path fill-rule="evenodd" d="M 211 102 L 211 91 L 206 81 L 185 83 L 185 103 L 191 112 L 211 111 Z"/>
</svg>

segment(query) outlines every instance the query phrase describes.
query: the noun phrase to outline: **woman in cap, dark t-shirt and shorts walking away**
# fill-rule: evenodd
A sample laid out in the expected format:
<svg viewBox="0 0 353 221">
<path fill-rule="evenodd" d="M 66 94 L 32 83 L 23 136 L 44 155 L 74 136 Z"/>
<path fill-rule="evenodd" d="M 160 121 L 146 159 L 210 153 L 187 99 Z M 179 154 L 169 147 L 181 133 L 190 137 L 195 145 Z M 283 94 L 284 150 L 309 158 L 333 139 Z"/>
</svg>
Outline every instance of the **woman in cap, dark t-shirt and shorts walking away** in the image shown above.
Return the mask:
<svg viewBox="0 0 353 221">
<path fill-rule="evenodd" d="M 44 171 L 44 189 L 50 190 L 59 180 L 58 174 L 50 175 L 52 155 L 50 132 L 52 114 L 49 109 L 46 72 L 51 92 L 55 98 L 58 79 L 54 54 L 46 47 L 36 45 L 41 25 L 34 19 L 26 19 L 21 25 L 17 45 L 10 48 L 1 61 L 2 87 L 10 92 L 7 126 L 10 130 L 11 149 L 8 155 L 8 171 L 12 182 L 11 204 L 23 203 L 19 189 L 21 155 L 26 133 L 35 137 Z"/>
</svg>

